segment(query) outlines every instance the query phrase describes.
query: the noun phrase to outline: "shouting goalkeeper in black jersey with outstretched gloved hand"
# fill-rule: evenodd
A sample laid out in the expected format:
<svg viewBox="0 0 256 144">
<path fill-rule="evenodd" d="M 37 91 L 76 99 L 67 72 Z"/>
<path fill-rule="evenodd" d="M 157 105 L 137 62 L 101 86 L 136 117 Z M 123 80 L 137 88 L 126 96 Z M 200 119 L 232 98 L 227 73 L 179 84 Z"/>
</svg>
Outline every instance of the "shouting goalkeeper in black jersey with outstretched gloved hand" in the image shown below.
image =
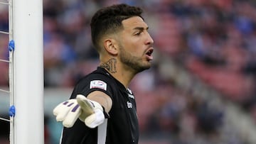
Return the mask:
<svg viewBox="0 0 256 144">
<path fill-rule="evenodd" d="M 108 6 L 95 13 L 90 26 L 100 65 L 53 110 L 64 126 L 60 143 L 137 144 L 137 109 L 128 87 L 137 73 L 151 67 L 154 50 L 142 9 Z"/>
</svg>

